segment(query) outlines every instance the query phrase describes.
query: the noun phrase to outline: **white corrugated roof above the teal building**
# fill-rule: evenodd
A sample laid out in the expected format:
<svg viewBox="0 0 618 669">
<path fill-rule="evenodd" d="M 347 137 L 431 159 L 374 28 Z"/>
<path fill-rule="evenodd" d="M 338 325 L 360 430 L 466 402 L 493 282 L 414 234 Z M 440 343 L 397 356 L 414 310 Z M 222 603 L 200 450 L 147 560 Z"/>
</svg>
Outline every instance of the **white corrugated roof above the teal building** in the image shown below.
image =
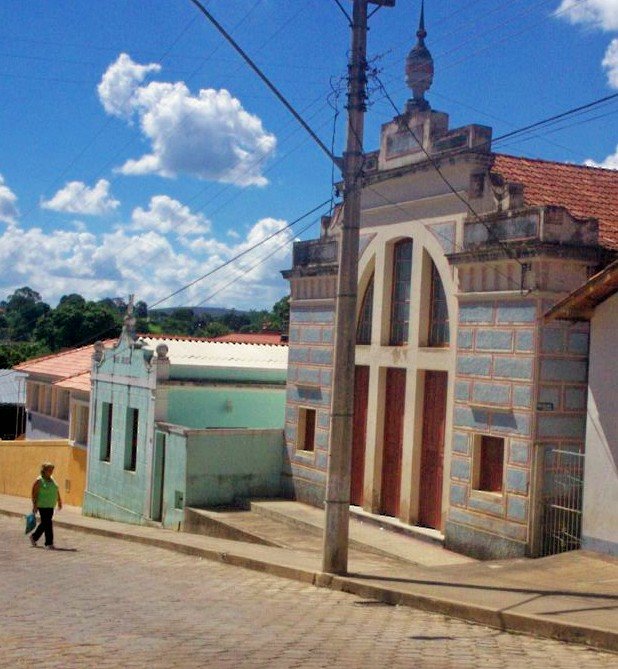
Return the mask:
<svg viewBox="0 0 618 669">
<path fill-rule="evenodd" d="M 174 337 L 140 337 L 140 341 L 153 351 L 159 344 L 165 344 L 172 365 L 269 370 L 283 370 L 288 365 L 287 346 Z"/>
</svg>

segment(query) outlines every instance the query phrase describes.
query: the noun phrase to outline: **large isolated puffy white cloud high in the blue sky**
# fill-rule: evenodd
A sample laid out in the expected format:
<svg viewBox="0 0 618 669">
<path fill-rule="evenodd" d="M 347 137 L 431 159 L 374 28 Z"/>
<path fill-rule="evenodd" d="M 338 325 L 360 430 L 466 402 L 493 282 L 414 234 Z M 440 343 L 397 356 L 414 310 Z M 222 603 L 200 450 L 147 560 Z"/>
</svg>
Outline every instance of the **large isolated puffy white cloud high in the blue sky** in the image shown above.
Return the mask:
<svg viewBox="0 0 618 669">
<path fill-rule="evenodd" d="M 139 85 L 140 68 L 122 54 L 103 75 L 99 97 L 108 113 L 139 120 L 151 152 L 125 162 L 123 174 L 189 174 L 200 179 L 263 186 L 264 162 L 276 146 L 274 135 L 225 89 L 192 95 L 183 82 Z M 150 70 L 149 70 L 150 71 Z M 103 87 L 103 83 L 106 86 Z"/>
</svg>

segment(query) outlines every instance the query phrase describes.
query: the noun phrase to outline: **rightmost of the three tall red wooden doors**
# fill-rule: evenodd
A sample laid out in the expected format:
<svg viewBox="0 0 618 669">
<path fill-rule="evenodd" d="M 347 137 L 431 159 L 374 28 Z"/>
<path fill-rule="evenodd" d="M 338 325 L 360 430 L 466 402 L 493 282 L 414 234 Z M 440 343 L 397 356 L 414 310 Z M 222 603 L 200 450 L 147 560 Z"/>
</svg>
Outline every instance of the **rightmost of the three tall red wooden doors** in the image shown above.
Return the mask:
<svg viewBox="0 0 618 669">
<path fill-rule="evenodd" d="M 418 524 L 440 529 L 444 475 L 446 372 L 425 372 Z"/>
</svg>

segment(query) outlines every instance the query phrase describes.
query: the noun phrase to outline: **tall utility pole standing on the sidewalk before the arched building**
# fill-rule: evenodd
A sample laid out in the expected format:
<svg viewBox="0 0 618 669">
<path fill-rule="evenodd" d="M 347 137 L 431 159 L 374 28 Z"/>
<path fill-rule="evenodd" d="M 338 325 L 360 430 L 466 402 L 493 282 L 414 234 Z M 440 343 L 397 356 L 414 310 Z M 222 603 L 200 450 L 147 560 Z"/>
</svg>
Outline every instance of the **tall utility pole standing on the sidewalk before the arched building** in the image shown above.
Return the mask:
<svg viewBox="0 0 618 669">
<path fill-rule="evenodd" d="M 368 5 L 393 7 L 395 0 L 353 0 L 353 3 L 352 49 L 348 66 L 348 131 L 343 154 L 344 212 L 335 306 L 333 396 L 322 558 L 322 570 L 332 574 L 345 574 L 348 570 L 358 238 L 367 83 L 367 8 Z"/>
</svg>

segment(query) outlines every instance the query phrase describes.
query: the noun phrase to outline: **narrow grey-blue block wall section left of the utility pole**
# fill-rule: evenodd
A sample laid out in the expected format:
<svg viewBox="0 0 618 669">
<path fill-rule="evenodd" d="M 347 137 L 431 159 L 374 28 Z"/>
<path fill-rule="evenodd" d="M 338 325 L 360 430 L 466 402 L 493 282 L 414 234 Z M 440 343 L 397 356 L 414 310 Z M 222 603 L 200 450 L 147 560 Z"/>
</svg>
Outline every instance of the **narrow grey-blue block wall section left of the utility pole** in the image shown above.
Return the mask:
<svg viewBox="0 0 618 669">
<path fill-rule="evenodd" d="M 299 501 L 324 502 L 332 392 L 333 300 L 290 305 L 288 380 L 285 410 L 284 490 Z M 313 451 L 299 450 L 300 409 L 316 410 Z"/>
</svg>

